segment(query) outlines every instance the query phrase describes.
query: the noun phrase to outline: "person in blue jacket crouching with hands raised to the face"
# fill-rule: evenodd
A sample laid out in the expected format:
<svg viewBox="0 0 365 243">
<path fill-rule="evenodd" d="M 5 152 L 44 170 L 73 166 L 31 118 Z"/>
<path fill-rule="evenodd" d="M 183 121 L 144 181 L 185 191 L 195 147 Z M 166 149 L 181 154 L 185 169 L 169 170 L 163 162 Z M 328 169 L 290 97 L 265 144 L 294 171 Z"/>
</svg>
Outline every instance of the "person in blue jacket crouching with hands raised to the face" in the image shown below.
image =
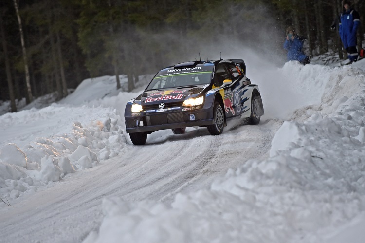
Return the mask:
<svg viewBox="0 0 365 243">
<path fill-rule="evenodd" d="M 303 52 L 303 39 L 295 33 L 295 29 L 292 26 L 287 28 L 287 37 L 284 42 L 284 49 L 288 51 L 288 61 L 299 61 L 306 65 L 309 64 L 309 57 Z"/>
</svg>

